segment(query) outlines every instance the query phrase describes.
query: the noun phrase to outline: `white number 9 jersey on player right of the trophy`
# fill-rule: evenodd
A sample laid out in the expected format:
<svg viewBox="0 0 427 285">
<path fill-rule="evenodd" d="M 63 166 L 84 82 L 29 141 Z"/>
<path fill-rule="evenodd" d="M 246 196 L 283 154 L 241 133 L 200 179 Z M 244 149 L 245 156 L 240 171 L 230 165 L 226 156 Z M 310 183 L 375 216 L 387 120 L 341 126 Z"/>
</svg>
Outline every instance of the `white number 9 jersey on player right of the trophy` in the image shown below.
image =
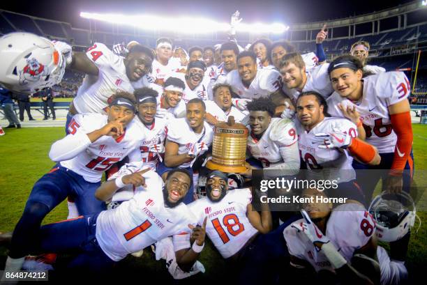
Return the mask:
<svg viewBox="0 0 427 285">
<path fill-rule="evenodd" d="M 260 139 L 250 131 L 248 136 L 248 151 L 250 155 L 262 162 L 262 168 L 274 167 L 283 163 L 280 147 L 292 146 L 298 141 L 295 125 L 287 118 L 271 118 L 269 128 Z M 298 156 L 297 156 L 298 157 Z"/>
</svg>

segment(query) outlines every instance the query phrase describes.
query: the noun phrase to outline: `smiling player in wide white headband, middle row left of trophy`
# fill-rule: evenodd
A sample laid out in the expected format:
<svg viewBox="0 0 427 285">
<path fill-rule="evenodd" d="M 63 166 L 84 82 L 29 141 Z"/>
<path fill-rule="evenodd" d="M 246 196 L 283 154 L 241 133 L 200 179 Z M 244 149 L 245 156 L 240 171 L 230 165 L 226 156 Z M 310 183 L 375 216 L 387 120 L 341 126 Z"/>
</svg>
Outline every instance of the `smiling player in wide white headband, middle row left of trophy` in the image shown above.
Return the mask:
<svg viewBox="0 0 427 285">
<path fill-rule="evenodd" d="M 157 97 L 156 117 L 181 118 L 186 114 L 186 103 L 182 100 L 186 84 L 177 77 L 169 77 L 163 85 L 163 93 Z"/>
</svg>

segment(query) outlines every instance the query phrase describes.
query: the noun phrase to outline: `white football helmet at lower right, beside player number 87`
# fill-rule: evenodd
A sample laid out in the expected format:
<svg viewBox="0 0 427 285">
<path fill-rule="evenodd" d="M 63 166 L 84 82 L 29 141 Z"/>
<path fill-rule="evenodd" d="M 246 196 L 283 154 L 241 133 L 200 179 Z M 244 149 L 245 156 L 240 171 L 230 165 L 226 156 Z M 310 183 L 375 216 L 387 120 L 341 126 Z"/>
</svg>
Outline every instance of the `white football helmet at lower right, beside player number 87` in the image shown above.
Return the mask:
<svg viewBox="0 0 427 285">
<path fill-rule="evenodd" d="M 403 238 L 415 223 L 414 200 L 405 192 L 382 192 L 370 203 L 368 211 L 377 223 L 377 238 L 384 242 Z"/>
</svg>

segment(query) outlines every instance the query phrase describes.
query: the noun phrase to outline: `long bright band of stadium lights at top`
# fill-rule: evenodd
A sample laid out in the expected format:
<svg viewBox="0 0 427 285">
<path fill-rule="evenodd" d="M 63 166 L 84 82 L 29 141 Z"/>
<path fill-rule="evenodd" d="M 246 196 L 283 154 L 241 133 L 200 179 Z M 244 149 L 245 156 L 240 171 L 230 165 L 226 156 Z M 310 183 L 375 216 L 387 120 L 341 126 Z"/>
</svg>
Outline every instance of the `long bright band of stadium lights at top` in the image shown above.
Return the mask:
<svg viewBox="0 0 427 285">
<path fill-rule="evenodd" d="M 80 13 L 80 17 L 112 24 L 124 24 L 137 26 L 146 30 L 179 31 L 181 33 L 210 33 L 215 31 L 228 31 L 230 24 L 216 22 L 202 17 L 159 17 L 155 15 L 119 15 L 119 14 L 98 14 Z M 289 29 L 280 23 L 273 24 L 244 24 L 236 27 L 237 31 L 248 33 L 284 33 Z"/>
</svg>

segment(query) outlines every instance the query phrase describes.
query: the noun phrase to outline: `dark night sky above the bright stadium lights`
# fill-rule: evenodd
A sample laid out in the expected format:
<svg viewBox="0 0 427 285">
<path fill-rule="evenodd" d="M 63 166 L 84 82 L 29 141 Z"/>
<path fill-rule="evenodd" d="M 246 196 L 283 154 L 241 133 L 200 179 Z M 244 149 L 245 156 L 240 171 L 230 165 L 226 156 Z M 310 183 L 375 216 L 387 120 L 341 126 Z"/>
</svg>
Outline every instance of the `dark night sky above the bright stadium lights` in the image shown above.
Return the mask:
<svg viewBox="0 0 427 285">
<path fill-rule="evenodd" d="M 381 3 L 382 2 L 382 3 Z M 241 12 L 241 17 L 247 22 L 283 22 L 295 24 L 315 22 L 350 17 L 391 8 L 410 0 L 384 1 L 345 1 L 345 0 L 45 0 L 45 1 L 2 1 L 0 8 L 18 13 L 45 17 L 52 20 L 70 22 L 79 27 L 80 12 L 92 13 L 153 13 L 189 15 L 216 18 L 218 21 L 230 21 L 230 15 L 235 10 Z"/>
</svg>

